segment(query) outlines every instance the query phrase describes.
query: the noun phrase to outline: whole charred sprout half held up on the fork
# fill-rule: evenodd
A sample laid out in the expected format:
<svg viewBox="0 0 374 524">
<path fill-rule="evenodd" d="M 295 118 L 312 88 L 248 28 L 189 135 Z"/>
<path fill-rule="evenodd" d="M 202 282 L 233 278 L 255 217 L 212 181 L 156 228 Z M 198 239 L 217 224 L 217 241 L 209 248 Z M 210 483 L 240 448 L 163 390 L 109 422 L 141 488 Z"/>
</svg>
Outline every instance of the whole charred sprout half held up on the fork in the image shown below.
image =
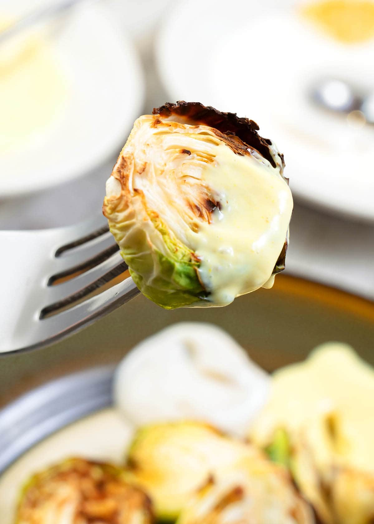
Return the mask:
<svg viewBox="0 0 374 524">
<path fill-rule="evenodd" d="M 233 113 L 178 102 L 137 119 L 103 213 L 138 288 L 166 309 L 225 305 L 284 269 L 283 156 Z"/>
</svg>

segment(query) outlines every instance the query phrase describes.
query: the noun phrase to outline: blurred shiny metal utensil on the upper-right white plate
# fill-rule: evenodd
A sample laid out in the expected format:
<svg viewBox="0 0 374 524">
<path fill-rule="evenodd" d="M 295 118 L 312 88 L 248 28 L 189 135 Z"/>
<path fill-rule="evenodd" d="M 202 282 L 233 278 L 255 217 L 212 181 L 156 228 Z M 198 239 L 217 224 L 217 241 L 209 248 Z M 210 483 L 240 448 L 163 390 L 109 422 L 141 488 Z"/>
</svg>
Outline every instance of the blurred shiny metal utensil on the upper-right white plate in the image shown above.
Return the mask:
<svg viewBox="0 0 374 524">
<path fill-rule="evenodd" d="M 359 111 L 368 124 L 374 124 L 374 92 L 361 96 L 347 82 L 327 79 L 313 90 L 312 98 L 329 111 L 347 114 Z"/>
</svg>

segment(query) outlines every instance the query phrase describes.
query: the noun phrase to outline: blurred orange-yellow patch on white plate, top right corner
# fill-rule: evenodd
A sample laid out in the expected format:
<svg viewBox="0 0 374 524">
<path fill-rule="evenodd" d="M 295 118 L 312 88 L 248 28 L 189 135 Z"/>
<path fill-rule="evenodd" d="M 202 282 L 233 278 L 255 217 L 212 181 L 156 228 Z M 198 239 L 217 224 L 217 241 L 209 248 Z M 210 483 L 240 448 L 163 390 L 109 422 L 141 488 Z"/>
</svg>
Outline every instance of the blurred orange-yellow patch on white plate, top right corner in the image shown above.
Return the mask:
<svg viewBox="0 0 374 524">
<path fill-rule="evenodd" d="M 336 40 L 358 43 L 374 37 L 374 2 L 368 0 L 328 0 L 313 2 L 302 14 Z"/>
</svg>

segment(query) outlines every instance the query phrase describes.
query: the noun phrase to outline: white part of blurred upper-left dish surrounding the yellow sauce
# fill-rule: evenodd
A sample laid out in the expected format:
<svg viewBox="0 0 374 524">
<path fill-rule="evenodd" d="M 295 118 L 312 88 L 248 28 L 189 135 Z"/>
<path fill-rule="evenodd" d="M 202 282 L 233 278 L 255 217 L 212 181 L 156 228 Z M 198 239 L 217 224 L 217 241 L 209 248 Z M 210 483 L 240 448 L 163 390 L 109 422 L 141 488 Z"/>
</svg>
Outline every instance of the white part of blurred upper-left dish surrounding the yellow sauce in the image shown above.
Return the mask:
<svg viewBox="0 0 374 524">
<path fill-rule="evenodd" d="M 28 0 L 8 0 L 2 15 L 17 17 L 30 8 Z M 47 28 L 63 78 L 62 102 L 37 133 L 0 154 L 0 197 L 87 173 L 123 146 L 144 101 L 138 57 L 105 5 L 80 2 Z"/>
</svg>

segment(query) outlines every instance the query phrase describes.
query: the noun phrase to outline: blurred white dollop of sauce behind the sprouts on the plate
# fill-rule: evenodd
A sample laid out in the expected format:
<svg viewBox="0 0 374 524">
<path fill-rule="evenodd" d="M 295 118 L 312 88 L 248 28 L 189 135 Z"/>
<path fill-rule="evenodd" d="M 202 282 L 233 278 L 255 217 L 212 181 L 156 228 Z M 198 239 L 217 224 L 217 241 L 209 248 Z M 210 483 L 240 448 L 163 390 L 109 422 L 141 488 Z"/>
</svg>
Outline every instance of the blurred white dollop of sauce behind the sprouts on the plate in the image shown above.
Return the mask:
<svg viewBox="0 0 374 524">
<path fill-rule="evenodd" d="M 182 322 L 125 356 L 116 371 L 114 402 L 136 427 L 202 420 L 243 437 L 269 388 L 269 375 L 222 329 Z"/>
</svg>

